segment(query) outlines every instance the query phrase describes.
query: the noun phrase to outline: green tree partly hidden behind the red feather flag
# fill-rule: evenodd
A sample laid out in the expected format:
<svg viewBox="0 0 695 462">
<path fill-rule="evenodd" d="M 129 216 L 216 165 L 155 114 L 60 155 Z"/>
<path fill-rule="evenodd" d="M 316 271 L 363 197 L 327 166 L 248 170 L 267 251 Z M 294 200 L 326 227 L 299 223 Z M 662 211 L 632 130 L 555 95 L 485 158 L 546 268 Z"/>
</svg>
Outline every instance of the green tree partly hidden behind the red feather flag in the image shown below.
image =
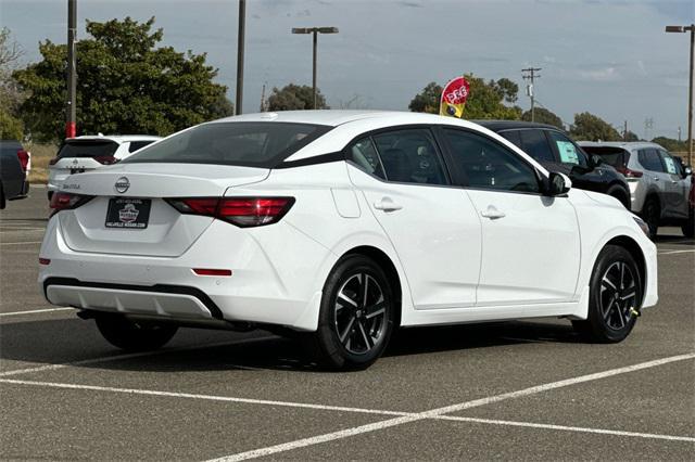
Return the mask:
<svg viewBox="0 0 695 462">
<path fill-rule="evenodd" d="M 485 81 L 472 74 L 467 74 L 466 80 L 470 85 L 470 93 L 464 108 L 464 118 L 478 119 L 518 119 L 521 110 L 517 106 L 509 107 L 504 103 L 514 103 L 517 100 L 519 86 L 507 78 Z M 439 114 L 439 104 L 442 97 L 442 87 L 430 82 L 421 92 L 415 95 L 408 108 L 416 113 Z"/>
</svg>

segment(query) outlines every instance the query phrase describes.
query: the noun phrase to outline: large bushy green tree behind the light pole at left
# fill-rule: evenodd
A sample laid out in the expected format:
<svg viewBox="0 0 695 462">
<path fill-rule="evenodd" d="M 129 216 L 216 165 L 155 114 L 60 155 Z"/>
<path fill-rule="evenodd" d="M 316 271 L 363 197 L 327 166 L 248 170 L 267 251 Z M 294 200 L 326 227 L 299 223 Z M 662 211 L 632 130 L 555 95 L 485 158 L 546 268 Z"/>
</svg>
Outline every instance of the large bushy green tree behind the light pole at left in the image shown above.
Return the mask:
<svg viewBox="0 0 695 462">
<path fill-rule="evenodd" d="M 205 54 L 159 47 L 162 29 L 126 17 L 87 21 L 91 38 L 77 43 L 77 127 L 81 133 L 168 134 L 229 112 L 226 87 Z M 24 123 L 42 141 L 63 136 L 66 46 L 39 43 L 42 60 L 14 73 L 30 92 Z M 224 107 L 223 107 L 224 106 Z M 222 107 L 222 110 L 220 110 Z"/>
</svg>

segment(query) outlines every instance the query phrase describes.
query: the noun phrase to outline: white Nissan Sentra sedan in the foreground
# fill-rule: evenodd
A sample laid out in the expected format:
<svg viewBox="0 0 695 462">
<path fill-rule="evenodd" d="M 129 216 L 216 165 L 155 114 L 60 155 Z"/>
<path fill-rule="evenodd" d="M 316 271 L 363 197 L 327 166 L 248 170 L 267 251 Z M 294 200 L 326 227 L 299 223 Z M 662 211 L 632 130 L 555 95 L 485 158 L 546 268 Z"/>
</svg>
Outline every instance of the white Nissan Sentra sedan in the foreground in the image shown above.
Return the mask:
<svg viewBox="0 0 695 462">
<path fill-rule="evenodd" d="M 365 368 L 396 328 L 561 317 L 609 343 L 657 301 L 640 218 L 427 114 L 202 124 L 70 177 L 51 206 L 46 298 L 130 350 L 181 325 L 261 328 Z"/>
</svg>

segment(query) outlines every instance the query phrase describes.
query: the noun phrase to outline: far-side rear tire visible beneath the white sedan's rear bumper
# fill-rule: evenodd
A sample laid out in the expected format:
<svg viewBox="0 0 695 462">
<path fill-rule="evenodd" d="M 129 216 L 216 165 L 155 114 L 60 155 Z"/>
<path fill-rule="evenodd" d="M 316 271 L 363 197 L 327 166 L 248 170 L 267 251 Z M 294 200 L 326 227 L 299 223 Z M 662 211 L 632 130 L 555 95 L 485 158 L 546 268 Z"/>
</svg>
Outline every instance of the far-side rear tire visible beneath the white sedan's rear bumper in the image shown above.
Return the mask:
<svg viewBox="0 0 695 462">
<path fill-rule="evenodd" d="M 178 330 L 174 324 L 139 323 L 115 313 L 99 315 L 96 321 L 99 332 L 110 344 L 128 351 L 161 348 Z"/>
</svg>

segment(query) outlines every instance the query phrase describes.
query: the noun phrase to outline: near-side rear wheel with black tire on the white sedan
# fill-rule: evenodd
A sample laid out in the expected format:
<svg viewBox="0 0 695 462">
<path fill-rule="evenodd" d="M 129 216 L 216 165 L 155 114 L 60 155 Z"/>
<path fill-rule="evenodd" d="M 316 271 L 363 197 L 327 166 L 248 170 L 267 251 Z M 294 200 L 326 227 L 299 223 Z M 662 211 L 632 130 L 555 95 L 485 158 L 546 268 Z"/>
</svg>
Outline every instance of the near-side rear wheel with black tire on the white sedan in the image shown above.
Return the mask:
<svg viewBox="0 0 695 462">
<path fill-rule="evenodd" d="M 366 369 L 389 344 L 395 309 L 383 270 L 370 258 L 349 255 L 326 280 L 318 330 L 305 345 L 321 367 Z"/>
</svg>

